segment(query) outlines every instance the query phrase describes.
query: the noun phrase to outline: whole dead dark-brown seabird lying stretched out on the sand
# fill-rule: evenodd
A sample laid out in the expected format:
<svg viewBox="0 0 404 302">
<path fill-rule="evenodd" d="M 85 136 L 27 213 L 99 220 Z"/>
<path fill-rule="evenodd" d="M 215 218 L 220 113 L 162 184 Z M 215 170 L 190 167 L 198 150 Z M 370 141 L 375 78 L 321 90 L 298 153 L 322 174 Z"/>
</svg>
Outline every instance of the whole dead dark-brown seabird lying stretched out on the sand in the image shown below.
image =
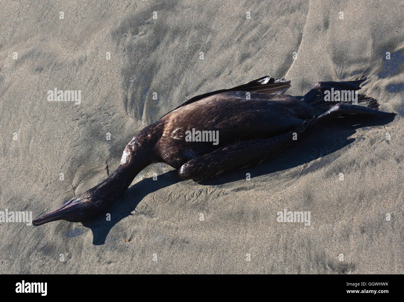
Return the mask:
<svg viewBox="0 0 404 302">
<path fill-rule="evenodd" d="M 361 82 L 318 82 L 299 98 L 283 94 L 290 81 L 267 76 L 195 96 L 139 131 L 125 147 L 118 168 L 103 182 L 33 224 L 82 221 L 99 214 L 152 162 L 179 169 L 184 179 L 201 180 L 274 158 L 296 137 L 332 117 L 389 115 L 377 111 L 377 101 L 364 96 L 359 100 L 366 107 L 324 101 L 327 88 L 356 91 Z M 198 131 L 202 139 L 191 135 Z"/>
</svg>

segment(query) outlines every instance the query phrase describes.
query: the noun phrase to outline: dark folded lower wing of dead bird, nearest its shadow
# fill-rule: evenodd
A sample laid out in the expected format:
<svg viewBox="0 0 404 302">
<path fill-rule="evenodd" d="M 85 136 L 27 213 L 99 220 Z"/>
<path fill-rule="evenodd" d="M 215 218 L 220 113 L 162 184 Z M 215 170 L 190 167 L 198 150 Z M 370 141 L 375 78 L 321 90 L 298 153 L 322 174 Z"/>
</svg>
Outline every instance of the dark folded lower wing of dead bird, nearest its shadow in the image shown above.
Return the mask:
<svg viewBox="0 0 404 302">
<path fill-rule="evenodd" d="M 178 174 L 183 179 L 203 180 L 223 172 L 255 166 L 266 159 L 278 156 L 286 147 L 295 143 L 310 122 L 306 120 L 297 129 L 272 138 L 252 139 L 226 145 L 183 164 Z"/>
</svg>

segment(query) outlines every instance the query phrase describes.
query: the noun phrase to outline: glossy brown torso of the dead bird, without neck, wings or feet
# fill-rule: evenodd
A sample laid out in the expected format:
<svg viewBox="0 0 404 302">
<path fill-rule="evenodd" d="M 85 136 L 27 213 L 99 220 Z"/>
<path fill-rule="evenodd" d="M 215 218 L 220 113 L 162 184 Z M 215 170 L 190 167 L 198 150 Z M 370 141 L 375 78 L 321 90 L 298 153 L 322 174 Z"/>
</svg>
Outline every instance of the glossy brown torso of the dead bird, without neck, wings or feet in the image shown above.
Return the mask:
<svg viewBox="0 0 404 302">
<path fill-rule="evenodd" d="M 156 122 L 157 161 L 180 168 L 186 161 L 238 141 L 271 138 L 299 127 L 318 110 L 293 96 L 222 92 L 179 107 Z M 161 123 L 161 124 L 160 124 Z M 187 141 L 186 131 L 217 133 L 217 142 Z"/>
</svg>

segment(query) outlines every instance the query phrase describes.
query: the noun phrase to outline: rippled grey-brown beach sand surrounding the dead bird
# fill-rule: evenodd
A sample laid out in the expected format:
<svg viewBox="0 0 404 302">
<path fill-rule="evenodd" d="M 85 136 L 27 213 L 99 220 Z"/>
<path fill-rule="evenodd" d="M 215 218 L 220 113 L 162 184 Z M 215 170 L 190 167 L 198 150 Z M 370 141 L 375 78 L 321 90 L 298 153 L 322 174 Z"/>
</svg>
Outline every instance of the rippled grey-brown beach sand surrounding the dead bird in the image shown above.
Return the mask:
<svg viewBox="0 0 404 302">
<path fill-rule="evenodd" d="M 397 113 L 333 120 L 273 161 L 202 184 L 152 164 L 111 221 L 1 222 L 0 273 L 404 273 L 401 1 L 0 7 L 0 211 L 59 208 L 166 112 L 265 75 L 290 79 L 292 95 L 367 76 L 360 92 Z M 80 90 L 81 103 L 47 101 L 55 88 Z M 310 211 L 310 225 L 277 222 L 284 209 Z"/>
</svg>

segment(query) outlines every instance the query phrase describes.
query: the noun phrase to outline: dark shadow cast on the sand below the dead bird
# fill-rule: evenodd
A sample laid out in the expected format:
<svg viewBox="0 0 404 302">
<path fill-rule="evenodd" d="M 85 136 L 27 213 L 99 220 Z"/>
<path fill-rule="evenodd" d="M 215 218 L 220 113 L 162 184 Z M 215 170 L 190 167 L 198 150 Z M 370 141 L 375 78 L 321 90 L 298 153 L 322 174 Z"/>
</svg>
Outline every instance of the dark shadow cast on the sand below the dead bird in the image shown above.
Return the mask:
<svg viewBox="0 0 404 302">
<path fill-rule="evenodd" d="M 248 171 L 246 169 L 235 171 L 224 174 L 220 178 L 200 182 L 200 184 L 223 185 L 225 183 L 246 179 L 246 172 L 250 173 L 251 177 L 256 177 L 306 164 L 353 143 L 356 138 L 347 138 L 353 135 L 356 129 L 384 125 L 391 122 L 393 119 L 394 116 L 383 119 L 380 119 L 380 117 L 356 116 L 354 118 L 337 118 L 331 120 L 310 130 L 300 141 L 297 141 L 295 146 L 286 149 L 282 155 L 274 160 L 267 161 L 260 166 L 249 168 Z M 313 169 L 313 167 L 311 168 Z M 309 173 L 309 171 L 303 173 Z M 106 219 L 106 215 L 100 215 L 98 218 L 83 222 L 84 227 L 88 227 L 93 232 L 93 244 L 104 244 L 112 227 L 123 218 L 132 215 L 132 212 L 146 195 L 173 185 L 181 180 L 177 171 L 171 170 L 159 175 L 158 181 L 153 180 L 153 178 L 145 178 L 130 187 L 126 190 L 124 196 L 114 201 L 112 206 L 105 212 L 105 214 L 110 214 L 110 220 Z"/>
</svg>

